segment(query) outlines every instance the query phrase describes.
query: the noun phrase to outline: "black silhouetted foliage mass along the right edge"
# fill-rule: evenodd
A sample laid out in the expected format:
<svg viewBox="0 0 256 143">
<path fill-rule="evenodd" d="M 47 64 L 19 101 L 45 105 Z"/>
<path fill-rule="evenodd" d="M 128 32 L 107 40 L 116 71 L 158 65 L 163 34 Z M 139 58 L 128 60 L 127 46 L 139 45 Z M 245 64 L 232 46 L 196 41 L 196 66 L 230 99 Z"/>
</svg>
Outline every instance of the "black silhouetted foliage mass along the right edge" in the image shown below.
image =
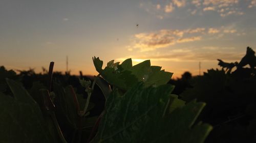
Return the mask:
<svg viewBox="0 0 256 143">
<path fill-rule="evenodd" d="M 205 142 L 256 142 L 256 77 L 254 51 L 237 63 L 219 61 L 222 70 L 208 70 L 191 79 L 193 88 L 180 96 L 185 101 L 206 102 L 199 120 L 210 123 L 214 130 Z M 249 65 L 250 68 L 244 68 Z M 231 72 L 233 67 L 237 69 Z M 226 70 L 224 70 L 226 68 Z"/>
</svg>

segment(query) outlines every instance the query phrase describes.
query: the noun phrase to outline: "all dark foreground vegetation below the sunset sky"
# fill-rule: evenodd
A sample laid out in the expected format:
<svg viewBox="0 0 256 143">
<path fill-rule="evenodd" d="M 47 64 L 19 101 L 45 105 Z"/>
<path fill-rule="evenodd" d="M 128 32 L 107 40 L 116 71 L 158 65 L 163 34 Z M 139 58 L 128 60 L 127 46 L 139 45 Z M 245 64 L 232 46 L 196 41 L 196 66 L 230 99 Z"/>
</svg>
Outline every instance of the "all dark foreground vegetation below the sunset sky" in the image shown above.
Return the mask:
<svg viewBox="0 0 256 143">
<path fill-rule="evenodd" d="M 175 80 L 131 59 L 93 58 L 95 77 L 1 67 L 0 142 L 256 142 L 254 53 Z"/>
</svg>

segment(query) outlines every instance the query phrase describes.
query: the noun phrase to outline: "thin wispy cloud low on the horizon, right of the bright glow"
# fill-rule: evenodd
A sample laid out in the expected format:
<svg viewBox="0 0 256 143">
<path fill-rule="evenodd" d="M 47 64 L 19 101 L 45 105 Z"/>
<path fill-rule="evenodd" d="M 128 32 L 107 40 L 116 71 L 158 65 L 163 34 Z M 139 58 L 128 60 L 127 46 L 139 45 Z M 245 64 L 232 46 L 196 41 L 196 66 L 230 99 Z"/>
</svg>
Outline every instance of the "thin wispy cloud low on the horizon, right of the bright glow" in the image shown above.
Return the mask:
<svg viewBox="0 0 256 143">
<path fill-rule="evenodd" d="M 244 52 L 237 52 L 234 47 L 201 47 L 201 48 L 183 48 L 169 50 L 167 53 L 157 53 L 150 55 L 129 56 L 133 60 L 142 62 L 144 60 L 152 61 L 175 61 L 175 62 L 209 62 L 222 59 L 227 62 L 239 61 Z M 128 57 L 118 58 L 118 61 L 124 61 Z"/>
</svg>

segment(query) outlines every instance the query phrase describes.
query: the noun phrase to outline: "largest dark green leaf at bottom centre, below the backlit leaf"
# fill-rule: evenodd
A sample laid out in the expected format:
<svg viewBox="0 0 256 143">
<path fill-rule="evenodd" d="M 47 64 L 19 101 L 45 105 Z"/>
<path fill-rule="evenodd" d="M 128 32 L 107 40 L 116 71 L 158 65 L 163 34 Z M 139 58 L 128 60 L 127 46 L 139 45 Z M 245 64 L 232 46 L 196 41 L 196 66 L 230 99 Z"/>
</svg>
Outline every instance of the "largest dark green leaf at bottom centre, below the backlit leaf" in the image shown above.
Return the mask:
<svg viewBox="0 0 256 143">
<path fill-rule="evenodd" d="M 203 142 L 212 127 L 194 122 L 205 103 L 178 104 L 165 115 L 173 89 L 169 84 L 144 88 L 140 82 L 124 95 L 115 90 L 91 142 Z"/>
</svg>

